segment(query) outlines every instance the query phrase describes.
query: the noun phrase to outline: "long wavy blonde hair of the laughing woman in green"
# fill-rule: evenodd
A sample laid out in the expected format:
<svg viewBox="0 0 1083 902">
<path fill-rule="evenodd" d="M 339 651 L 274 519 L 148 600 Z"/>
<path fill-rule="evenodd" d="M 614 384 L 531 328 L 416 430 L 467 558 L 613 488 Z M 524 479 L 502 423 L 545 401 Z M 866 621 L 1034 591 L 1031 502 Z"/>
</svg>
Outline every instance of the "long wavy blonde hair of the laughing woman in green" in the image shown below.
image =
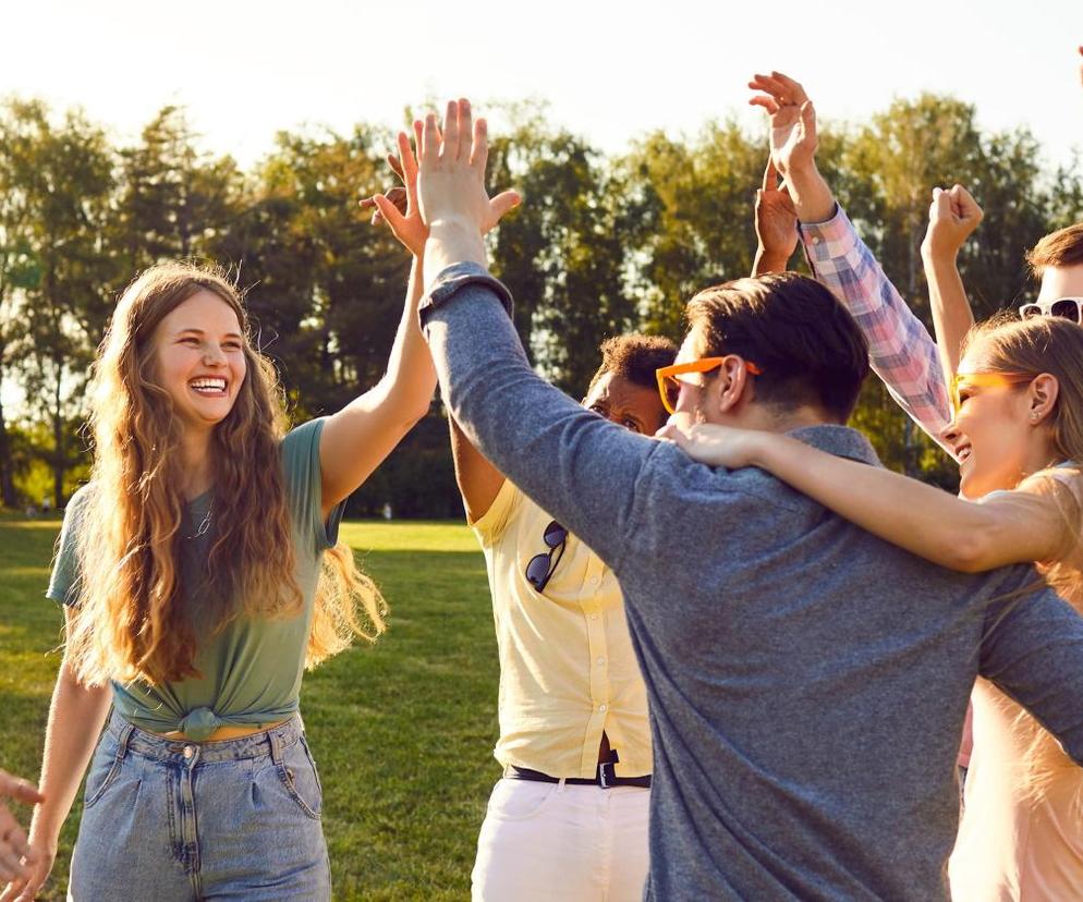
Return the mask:
<svg viewBox="0 0 1083 902">
<path fill-rule="evenodd" d="M 279 442 L 287 431 L 275 367 L 252 344 L 240 292 L 224 273 L 184 263 L 129 285 L 94 364 L 88 427 L 94 466 L 77 528 L 80 580 L 68 655 L 81 681 L 163 683 L 198 675 L 181 584 L 183 427 L 156 374 L 155 332 L 209 291 L 236 314 L 247 374 L 212 434 L 214 536 L 202 594 L 221 629 L 240 615 L 296 617 L 293 524 Z M 386 605 L 343 543 L 324 552 L 305 663 L 314 667 L 385 630 Z"/>
</svg>

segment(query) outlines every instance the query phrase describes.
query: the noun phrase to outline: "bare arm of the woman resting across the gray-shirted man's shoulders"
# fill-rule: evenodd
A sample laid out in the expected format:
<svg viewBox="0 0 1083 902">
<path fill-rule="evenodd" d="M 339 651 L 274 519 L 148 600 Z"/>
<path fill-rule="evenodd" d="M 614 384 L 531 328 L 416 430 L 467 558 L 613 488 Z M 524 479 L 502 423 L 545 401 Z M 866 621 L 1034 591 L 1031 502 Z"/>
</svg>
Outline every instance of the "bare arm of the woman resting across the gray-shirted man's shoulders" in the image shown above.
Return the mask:
<svg viewBox="0 0 1083 902">
<path fill-rule="evenodd" d="M 811 448 L 777 432 L 701 424 L 660 434 L 710 466 L 758 466 L 876 536 L 933 563 L 975 573 L 1047 561 L 1063 543 L 1051 499 L 1022 491 L 985 502 Z"/>
</svg>

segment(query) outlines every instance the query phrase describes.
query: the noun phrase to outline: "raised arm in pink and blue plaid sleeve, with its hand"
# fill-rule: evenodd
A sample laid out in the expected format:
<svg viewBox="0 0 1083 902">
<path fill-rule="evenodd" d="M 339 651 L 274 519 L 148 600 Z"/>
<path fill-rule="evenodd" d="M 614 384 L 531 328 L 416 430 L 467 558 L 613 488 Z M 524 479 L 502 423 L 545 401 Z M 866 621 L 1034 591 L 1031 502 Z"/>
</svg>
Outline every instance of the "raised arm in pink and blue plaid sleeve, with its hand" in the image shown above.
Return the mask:
<svg viewBox="0 0 1083 902">
<path fill-rule="evenodd" d="M 760 92 L 750 102 L 770 117 L 771 158 L 793 199 L 813 273 L 853 314 L 868 341 L 873 369 L 895 400 L 939 441 L 951 414 L 936 344 L 820 175 L 812 101 L 800 84 L 780 72 L 756 75 L 749 86 Z"/>
</svg>

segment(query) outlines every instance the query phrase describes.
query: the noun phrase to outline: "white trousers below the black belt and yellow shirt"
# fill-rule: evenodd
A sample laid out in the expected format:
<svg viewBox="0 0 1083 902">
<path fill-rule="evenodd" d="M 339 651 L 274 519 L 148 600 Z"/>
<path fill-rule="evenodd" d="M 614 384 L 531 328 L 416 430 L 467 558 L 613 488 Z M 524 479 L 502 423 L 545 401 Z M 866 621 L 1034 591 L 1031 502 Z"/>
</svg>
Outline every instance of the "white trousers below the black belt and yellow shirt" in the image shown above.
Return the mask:
<svg viewBox="0 0 1083 902">
<path fill-rule="evenodd" d="M 502 779 L 471 875 L 474 902 L 640 902 L 650 790 Z"/>
</svg>

